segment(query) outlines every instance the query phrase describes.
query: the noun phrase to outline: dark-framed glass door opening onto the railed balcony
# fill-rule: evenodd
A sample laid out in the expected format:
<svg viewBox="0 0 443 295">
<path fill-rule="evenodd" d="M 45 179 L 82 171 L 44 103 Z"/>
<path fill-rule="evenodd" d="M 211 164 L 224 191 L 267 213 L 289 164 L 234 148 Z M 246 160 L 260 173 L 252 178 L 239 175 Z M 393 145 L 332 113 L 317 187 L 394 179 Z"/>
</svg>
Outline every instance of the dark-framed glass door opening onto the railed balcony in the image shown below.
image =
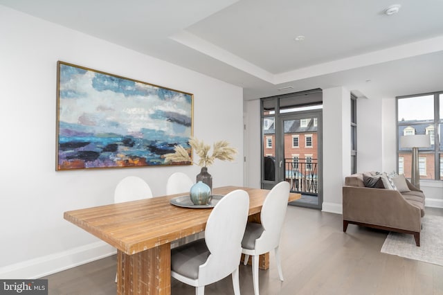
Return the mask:
<svg viewBox="0 0 443 295">
<path fill-rule="evenodd" d="M 279 118 L 276 182 L 288 181 L 291 192 L 302 195 L 293 205 L 321 209 L 321 114 L 321 109 L 316 109 Z"/>
</svg>

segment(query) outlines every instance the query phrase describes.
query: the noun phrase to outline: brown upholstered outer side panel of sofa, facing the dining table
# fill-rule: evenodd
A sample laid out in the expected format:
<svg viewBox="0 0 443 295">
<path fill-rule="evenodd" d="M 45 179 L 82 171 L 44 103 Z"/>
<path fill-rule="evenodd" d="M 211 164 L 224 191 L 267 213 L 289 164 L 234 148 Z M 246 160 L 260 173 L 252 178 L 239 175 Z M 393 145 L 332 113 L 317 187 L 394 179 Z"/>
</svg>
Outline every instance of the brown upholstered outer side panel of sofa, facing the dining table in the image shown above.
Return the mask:
<svg viewBox="0 0 443 295">
<path fill-rule="evenodd" d="M 343 220 L 419 232 L 420 209 L 398 190 L 343 186 Z"/>
</svg>

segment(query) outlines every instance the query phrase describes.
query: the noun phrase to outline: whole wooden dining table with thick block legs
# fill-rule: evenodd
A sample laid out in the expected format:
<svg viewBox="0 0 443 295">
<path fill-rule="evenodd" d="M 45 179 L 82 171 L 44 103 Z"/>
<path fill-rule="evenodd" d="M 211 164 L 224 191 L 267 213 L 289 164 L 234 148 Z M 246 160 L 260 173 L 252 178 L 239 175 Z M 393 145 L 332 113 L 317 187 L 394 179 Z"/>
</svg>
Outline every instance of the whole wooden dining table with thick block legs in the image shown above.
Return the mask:
<svg viewBox="0 0 443 295">
<path fill-rule="evenodd" d="M 249 195 L 251 222 L 260 222 L 260 212 L 269 190 L 224 186 L 213 193 L 233 190 Z M 212 208 L 183 208 L 166 195 L 119 204 L 84 208 L 64 213 L 64 219 L 117 249 L 117 294 L 170 294 L 171 242 L 204 231 Z M 300 199 L 291 193 L 288 202 Z M 260 267 L 269 267 L 269 253 L 260 257 Z"/>
</svg>

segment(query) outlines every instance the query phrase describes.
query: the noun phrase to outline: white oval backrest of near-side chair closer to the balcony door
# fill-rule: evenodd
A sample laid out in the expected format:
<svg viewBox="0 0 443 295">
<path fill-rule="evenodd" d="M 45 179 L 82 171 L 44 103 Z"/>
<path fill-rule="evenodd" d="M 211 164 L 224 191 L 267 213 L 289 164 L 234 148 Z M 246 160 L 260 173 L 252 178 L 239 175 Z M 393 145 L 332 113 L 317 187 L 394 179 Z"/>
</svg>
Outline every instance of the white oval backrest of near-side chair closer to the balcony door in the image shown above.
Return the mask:
<svg viewBox="0 0 443 295">
<path fill-rule="evenodd" d="M 263 226 L 263 233 L 255 240 L 255 251 L 271 251 L 280 244 L 280 234 L 284 216 L 288 206 L 289 183 L 281 181 L 274 186 L 264 199 L 260 222 Z"/>
</svg>

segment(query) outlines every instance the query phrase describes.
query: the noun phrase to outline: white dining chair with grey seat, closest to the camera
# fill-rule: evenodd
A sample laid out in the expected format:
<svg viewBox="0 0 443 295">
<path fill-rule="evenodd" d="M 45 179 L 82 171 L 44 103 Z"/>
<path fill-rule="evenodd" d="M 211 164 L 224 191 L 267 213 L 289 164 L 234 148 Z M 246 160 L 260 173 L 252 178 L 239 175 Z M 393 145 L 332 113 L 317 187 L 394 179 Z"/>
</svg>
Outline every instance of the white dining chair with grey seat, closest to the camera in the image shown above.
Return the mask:
<svg viewBox="0 0 443 295">
<path fill-rule="evenodd" d="M 221 198 L 206 222 L 205 238 L 172 249 L 171 276 L 204 295 L 206 285 L 232 275 L 234 294 L 240 294 L 239 260 L 248 210 L 244 190 Z"/>
</svg>

